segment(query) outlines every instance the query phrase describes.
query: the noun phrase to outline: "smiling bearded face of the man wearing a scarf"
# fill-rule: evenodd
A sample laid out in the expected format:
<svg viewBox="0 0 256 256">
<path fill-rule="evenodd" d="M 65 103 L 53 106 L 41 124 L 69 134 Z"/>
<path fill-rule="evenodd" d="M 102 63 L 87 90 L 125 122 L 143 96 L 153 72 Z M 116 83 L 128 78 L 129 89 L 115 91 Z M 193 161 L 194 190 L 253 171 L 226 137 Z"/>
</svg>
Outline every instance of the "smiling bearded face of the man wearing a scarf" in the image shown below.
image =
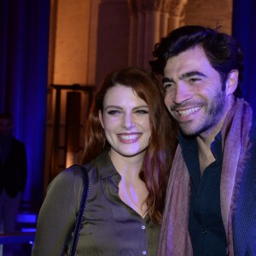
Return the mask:
<svg viewBox="0 0 256 256">
<path fill-rule="evenodd" d="M 166 62 L 166 107 L 185 135 L 217 134 L 230 109 L 219 73 L 196 46 Z"/>
</svg>

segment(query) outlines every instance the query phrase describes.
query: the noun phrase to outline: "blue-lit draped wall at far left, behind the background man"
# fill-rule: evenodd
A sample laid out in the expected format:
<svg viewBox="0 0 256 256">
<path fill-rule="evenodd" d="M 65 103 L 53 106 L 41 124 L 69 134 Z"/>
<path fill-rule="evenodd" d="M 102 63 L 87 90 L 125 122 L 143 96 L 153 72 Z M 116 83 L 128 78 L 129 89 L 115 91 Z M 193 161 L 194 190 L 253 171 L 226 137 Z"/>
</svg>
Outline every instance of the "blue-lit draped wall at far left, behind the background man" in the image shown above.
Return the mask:
<svg viewBox="0 0 256 256">
<path fill-rule="evenodd" d="M 26 144 L 25 201 L 40 201 L 44 180 L 49 0 L 0 1 L 0 111 Z"/>
</svg>

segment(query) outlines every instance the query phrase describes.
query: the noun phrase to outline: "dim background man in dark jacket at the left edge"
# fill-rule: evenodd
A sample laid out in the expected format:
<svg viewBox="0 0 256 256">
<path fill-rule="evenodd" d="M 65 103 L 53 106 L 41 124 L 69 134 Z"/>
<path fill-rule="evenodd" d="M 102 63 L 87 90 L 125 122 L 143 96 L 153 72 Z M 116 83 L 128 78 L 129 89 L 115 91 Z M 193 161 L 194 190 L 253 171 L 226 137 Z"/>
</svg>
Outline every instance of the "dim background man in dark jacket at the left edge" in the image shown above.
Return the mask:
<svg viewBox="0 0 256 256">
<path fill-rule="evenodd" d="M 26 148 L 12 136 L 12 118 L 0 114 L 0 220 L 4 233 L 15 232 L 21 193 L 26 186 Z M 11 249 L 11 248 L 10 248 Z M 4 255 L 8 246 L 3 247 Z"/>
</svg>

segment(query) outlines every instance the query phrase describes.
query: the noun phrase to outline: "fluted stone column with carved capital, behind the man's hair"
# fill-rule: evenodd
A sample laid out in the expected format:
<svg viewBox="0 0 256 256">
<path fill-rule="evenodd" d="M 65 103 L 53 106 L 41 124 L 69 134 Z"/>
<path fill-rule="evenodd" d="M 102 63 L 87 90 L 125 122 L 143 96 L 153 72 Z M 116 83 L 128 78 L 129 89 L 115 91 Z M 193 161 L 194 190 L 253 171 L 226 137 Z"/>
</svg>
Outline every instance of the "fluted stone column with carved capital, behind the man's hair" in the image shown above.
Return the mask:
<svg viewBox="0 0 256 256">
<path fill-rule="evenodd" d="M 181 24 L 187 0 L 128 0 L 129 65 L 148 69 L 154 44 Z"/>
</svg>

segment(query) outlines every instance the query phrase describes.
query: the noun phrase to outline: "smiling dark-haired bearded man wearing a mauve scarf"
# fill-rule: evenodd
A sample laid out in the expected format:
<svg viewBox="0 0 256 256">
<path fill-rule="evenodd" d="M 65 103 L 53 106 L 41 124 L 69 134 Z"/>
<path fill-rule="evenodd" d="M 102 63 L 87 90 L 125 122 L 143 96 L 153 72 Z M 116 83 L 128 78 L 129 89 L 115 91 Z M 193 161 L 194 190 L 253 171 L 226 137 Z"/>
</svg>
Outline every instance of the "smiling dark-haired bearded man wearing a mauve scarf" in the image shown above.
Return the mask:
<svg viewBox="0 0 256 256">
<path fill-rule="evenodd" d="M 179 125 L 159 255 L 256 255 L 256 132 L 234 38 L 183 26 L 155 45 Z"/>
</svg>

